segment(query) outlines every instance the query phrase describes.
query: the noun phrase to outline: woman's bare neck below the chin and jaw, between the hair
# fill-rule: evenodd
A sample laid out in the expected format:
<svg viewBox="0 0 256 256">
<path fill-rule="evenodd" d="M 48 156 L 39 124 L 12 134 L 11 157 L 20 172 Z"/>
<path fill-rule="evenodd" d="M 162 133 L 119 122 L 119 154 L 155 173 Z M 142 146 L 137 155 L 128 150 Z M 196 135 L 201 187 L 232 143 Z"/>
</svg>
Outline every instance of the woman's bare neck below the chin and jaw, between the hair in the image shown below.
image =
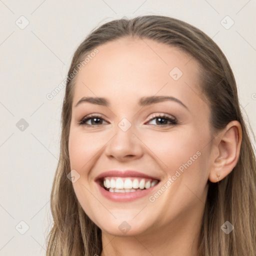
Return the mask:
<svg viewBox="0 0 256 256">
<path fill-rule="evenodd" d="M 175 220 L 150 232 L 132 236 L 115 236 L 102 231 L 100 256 L 197 256 L 199 231 L 203 205 L 200 213 L 180 214 Z M 127 233 L 128 234 L 128 233 Z"/>
</svg>

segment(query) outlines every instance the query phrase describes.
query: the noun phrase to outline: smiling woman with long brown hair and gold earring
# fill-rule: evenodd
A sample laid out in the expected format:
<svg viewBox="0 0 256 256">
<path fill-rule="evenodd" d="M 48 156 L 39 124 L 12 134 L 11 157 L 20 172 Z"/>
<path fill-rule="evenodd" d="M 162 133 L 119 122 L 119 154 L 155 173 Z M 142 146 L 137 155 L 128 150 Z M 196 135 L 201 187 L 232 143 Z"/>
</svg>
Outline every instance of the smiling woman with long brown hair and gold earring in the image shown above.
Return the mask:
<svg viewBox="0 0 256 256">
<path fill-rule="evenodd" d="M 234 76 L 206 34 L 147 15 L 79 45 L 47 255 L 256 255 L 255 181 Z"/>
</svg>

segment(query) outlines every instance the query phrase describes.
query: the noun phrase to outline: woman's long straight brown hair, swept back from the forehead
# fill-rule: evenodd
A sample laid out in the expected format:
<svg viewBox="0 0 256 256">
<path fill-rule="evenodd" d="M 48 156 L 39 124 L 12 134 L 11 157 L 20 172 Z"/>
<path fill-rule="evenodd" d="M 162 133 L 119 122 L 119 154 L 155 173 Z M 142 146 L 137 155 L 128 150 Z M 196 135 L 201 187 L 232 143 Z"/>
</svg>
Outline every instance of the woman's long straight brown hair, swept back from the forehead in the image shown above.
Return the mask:
<svg viewBox="0 0 256 256">
<path fill-rule="evenodd" d="M 197 60 L 201 67 L 200 89 L 211 110 L 210 126 L 213 136 L 228 122 L 240 122 L 242 141 L 237 164 L 218 183 L 209 182 L 198 255 L 255 256 L 256 163 L 239 107 L 232 70 L 220 48 L 205 33 L 186 22 L 160 15 L 144 15 L 104 23 L 92 30 L 74 52 L 62 105 L 60 156 L 50 202 L 54 222 L 47 235 L 46 255 L 91 256 L 100 255 L 102 251 L 101 230 L 81 208 L 72 183 L 67 178 L 70 172 L 68 137 L 76 77 L 71 74 L 86 54 L 98 45 L 124 36 L 148 38 L 176 46 Z M 220 229 L 226 220 L 234 226 L 228 235 Z"/>
</svg>

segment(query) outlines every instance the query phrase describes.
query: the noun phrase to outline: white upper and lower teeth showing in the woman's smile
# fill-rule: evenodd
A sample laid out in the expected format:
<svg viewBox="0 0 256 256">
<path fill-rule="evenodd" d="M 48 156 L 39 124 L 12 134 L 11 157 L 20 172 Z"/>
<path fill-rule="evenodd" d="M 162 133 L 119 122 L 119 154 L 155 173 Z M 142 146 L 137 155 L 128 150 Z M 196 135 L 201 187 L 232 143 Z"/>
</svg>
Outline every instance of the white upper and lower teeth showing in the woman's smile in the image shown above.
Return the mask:
<svg viewBox="0 0 256 256">
<path fill-rule="evenodd" d="M 155 186 L 158 179 L 141 177 L 103 177 L 100 181 L 101 187 L 109 192 L 136 192 Z"/>
</svg>

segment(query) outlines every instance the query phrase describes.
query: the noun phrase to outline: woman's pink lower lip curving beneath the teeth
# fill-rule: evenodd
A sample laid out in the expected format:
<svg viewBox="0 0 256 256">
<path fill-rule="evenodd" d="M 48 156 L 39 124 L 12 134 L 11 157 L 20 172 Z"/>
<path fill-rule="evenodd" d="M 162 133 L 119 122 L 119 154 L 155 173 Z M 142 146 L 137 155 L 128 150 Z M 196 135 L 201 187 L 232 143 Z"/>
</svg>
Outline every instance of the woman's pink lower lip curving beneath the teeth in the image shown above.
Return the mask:
<svg viewBox="0 0 256 256">
<path fill-rule="evenodd" d="M 104 197 L 106 197 L 107 199 L 115 201 L 115 202 L 130 202 L 130 201 L 136 200 L 138 198 L 141 198 L 143 196 L 146 196 L 150 192 L 152 192 L 152 190 L 158 185 L 158 183 L 152 187 L 147 188 L 147 189 L 143 189 L 143 190 L 139 190 L 139 191 L 135 191 L 135 192 L 109 192 L 106 189 L 104 189 L 98 182 L 96 182 L 101 194 Z"/>
</svg>

